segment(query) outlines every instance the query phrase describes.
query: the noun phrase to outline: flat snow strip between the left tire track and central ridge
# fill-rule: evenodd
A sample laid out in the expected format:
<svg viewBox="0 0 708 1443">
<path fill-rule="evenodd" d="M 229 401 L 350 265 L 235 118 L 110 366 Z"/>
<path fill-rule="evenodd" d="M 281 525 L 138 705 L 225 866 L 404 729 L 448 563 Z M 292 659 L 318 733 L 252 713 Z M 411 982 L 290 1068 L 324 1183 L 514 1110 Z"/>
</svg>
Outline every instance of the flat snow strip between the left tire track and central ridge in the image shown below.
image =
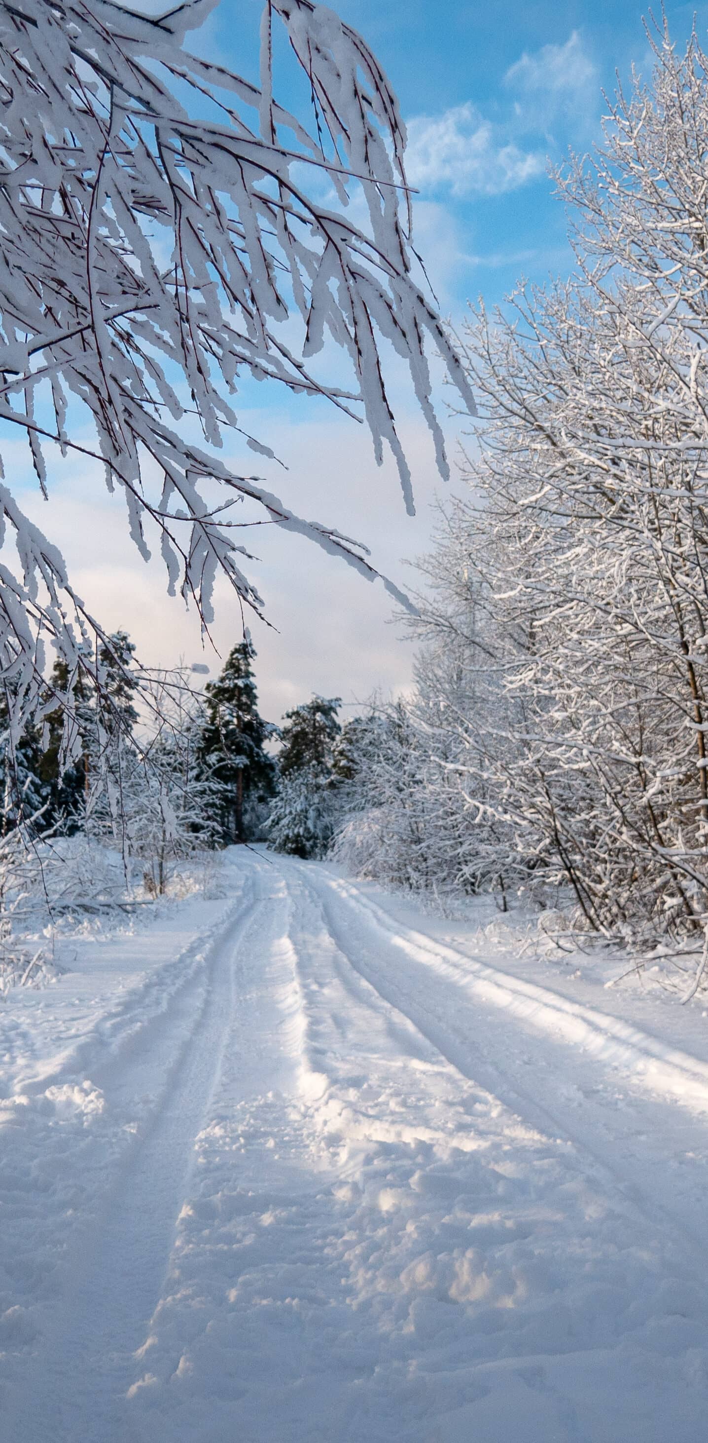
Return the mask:
<svg viewBox="0 0 708 1443">
<path fill-rule="evenodd" d="M 249 864 L 254 866 L 251 860 Z M 265 1375 L 270 1395 L 283 1387 L 283 1371 L 288 1374 L 293 1368 L 291 1354 L 286 1359 L 278 1356 L 284 1342 L 280 1323 L 275 1351 L 262 1325 L 271 1293 L 288 1289 L 286 1280 L 304 1270 L 309 1296 L 319 1291 L 324 1278 L 326 1289 L 336 1284 L 332 1296 L 326 1294 L 332 1312 L 346 1306 L 346 1280 L 327 1257 L 332 1188 L 339 1175 L 319 1139 L 313 1146 L 310 1107 L 322 1094 L 323 1078 L 313 1069 L 307 1049 L 307 1013 L 294 939 L 298 895 L 291 877 L 286 879 L 274 866 L 262 867 L 261 882 L 270 889 L 267 921 L 254 948 L 241 949 L 235 967 L 236 1009 L 199 1137 L 199 1170 L 192 1176 L 192 1190 L 179 1218 L 164 1294 L 136 1355 L 130 1388 L 136 1434 L 130 1437 L 140 1443 L 176 1439 L 198 1443 L 206 1436 L 215 1443 L 231 1443 L 241 1436 L 257 1443 L 258 1429 L 247 1426 L 241 1434 L 244 1416 L 238 1403 L 249 1381 L 241 1374 L 244 1351 L 255 1355 L 254 1382 L 258 1387 L 261 1374 Z M 235 1316 L 236 1291 L 245 1287 L 248 1293 L 251 1287 L 251 1270 L 245 1268 L 245 1283 L 234 1270 L 242 1228 L 245 1251 L 258 1254 L 255 1274 L 262 1296 L 255 1313 L 245 1316 L 238 1329 L 228 1368 L 211 1375 L 213 1356 L 225 1356 L 224 1313 Z M 320 1336 L 309 1341 L 304 1332 L 301 1346 L 298 1367 L 307 1369 L 313 1358 L 316 1368 L 320 1367 Z M 202 1378 L 209 1377 L 208 1424 L 203 1403 L 189 1398 L 195 1356 Z M 294 1403 L 301 1410 L 303 1400 Z"/>
</svg>

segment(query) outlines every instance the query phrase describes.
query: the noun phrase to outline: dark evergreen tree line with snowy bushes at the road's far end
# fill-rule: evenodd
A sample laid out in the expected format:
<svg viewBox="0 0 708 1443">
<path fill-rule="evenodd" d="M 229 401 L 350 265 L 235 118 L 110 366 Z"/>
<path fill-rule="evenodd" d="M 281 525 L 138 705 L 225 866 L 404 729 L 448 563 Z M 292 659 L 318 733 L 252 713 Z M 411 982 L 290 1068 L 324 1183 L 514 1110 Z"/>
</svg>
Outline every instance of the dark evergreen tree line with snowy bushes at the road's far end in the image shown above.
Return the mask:
<svg viewBox="0 0 708 1443">
<path fill-rule="evenodd" d="M 143 860 L 154 895 L 173 861 L 199 850 L 267 840 L 323 856 L 350 771 L 339 697 L 316 696 L 278 727 L 260 713 L 249 639 L 203 690 L 187 668 L 146 672 L 134 649 L 118 631 L 72 675 L 58 659 L 42 724 L 19 736 L 3 698 L 1 835 L 117 846 Z"/>
</svg>

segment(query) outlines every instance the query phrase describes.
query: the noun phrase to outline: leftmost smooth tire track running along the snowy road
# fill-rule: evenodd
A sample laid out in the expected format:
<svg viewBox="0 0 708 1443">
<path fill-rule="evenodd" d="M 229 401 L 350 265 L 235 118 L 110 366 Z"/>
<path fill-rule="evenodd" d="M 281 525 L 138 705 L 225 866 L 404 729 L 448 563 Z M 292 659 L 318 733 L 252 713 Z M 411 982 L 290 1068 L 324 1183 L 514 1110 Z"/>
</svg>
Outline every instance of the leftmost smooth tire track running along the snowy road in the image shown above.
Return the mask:
<svg viewBox="0 0 708 1443">
<path fill-rule="evenodd" d="M 172 1009 L 157 1019 L 170 1056 L 159 1100 L 76 1248 L 71 1296 L 59 1300 L 27 1369 L 42 1369 L 42 1388 L 32 1388 L 23 1369 L 6 1391 L 6 1436 L 13 1443 L 79 1443 L 88 1417 L 91 1443 L 131 1443 L 136 1437 L 124 1407 L 133 1355 L 161 1293 L 193 1144 L 218 1084 L 235 1006 L 236 954 L 248 947 L 251 932 L 262 931 L 261 912 L 268 903 L 255 877 L 255 896 L 236 924 L 231 919 L 219 929 L 211 947 L 205 996 L 176 1059 L 169 1046 L 176 1020 Z M 150 1068 L 160 1072 L 154 1023 L 147 1025 L 144 1042 L 156 1048 Z M 115 1059 L 108 1059 L 108 1069 L 114 1065 Z"/>
</svg>

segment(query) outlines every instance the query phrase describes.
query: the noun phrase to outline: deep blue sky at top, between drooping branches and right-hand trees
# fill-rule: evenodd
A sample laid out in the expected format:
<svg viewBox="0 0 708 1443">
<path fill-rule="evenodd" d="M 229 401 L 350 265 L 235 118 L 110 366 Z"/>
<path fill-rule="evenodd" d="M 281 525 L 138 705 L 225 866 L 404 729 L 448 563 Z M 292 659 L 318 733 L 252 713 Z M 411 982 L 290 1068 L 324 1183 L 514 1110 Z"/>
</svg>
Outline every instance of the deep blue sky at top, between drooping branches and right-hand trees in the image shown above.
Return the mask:
<svg viewBox="0 0 708 1443">
<path fill-rule="evenodd" d="M 222 0 L 203 43 L 234 65 L 247 55 L 255 74 L 260 9 L 260 0 L 238 7 Z M 598 137 L 601 92 L 614 91 L 616 71 L 624 79 L 633 63 L 647 71 L 646 6 L 342 0 L 336 9 L 365 36 L 399 97 L 422 202 L 418 240 L 440 261 L 444 299 L 459 310 L 479 291 L 500 299 L 519 274 L 568 270 L 565 218 L 547 162 Z M 679 46 L 694 13 L 705 39 L 708 4 L 666 4 Z M 287 88 L 286 76 L 283 69 Z"/>
</svg>

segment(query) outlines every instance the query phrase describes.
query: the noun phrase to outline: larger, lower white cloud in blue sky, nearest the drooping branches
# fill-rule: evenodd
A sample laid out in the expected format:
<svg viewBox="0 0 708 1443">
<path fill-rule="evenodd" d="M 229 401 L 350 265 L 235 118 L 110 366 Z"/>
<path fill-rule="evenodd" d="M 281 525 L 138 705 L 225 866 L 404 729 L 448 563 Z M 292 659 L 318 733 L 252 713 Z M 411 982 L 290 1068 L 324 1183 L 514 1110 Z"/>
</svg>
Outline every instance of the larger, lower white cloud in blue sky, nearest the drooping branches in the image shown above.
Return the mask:
<svg viewBox="0 0 708 1443">
<path fill-rule="evenodd" d="M 457 196 L 502 195 L 544 169 L 542 152 L 521 150 L 470 102 L 408 121 L 407 172 L 421 190 L 446 186 Z"/>
</svg>

